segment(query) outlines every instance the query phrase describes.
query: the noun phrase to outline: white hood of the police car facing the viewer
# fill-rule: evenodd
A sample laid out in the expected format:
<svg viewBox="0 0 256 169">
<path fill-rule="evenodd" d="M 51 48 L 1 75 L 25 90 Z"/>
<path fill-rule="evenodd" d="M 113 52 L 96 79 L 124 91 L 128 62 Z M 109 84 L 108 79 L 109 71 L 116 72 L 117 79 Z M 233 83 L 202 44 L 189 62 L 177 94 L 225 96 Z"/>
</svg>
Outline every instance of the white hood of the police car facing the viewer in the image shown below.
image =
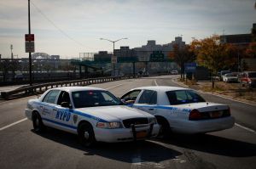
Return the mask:
<svg viewBox="0 0 256 169">
<path fill-rule="evenodd" d="M 80 113 L 92 115 L 105 121 L 122 121 L 137 117 L 154 117 L 142 110 L 136 110 L 125 105 L 98 106 L 76 109 Z"/>
</svg>

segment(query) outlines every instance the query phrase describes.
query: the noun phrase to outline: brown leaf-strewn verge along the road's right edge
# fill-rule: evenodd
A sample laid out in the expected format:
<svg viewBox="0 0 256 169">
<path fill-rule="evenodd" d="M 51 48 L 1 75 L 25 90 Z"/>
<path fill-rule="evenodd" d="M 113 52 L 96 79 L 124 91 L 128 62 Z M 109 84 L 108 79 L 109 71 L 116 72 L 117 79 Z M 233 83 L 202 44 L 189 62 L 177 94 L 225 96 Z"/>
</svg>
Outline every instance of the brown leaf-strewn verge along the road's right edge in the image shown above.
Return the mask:
<svg viewBox="0 0 256 169">
<path fill-rule="evenodd" d="M 180 79 L 178 82 L 183 82 Z M 248 103 L 256 104 L 256 88 L 241 87 L 240 83 L 227 83 L 227 82 L 214 82 L 214 88 L 212 88 L 212 82 L 195 82 L 185 81 L 183 84 L 193 88 L 195 90 L 201 90 L 203 92 L 218 93 L 231 99 L 246 100 Z"/>
</svg>

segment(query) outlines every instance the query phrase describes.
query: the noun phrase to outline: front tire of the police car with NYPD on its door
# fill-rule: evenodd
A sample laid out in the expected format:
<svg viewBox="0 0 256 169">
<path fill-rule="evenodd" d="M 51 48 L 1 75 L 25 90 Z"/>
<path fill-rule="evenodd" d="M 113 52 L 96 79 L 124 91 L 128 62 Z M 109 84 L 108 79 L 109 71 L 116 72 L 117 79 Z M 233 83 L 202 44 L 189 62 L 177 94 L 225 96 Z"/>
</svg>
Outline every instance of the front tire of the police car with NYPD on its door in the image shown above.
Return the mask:
<svg viewBox="0 0 256 169">
<path fill-rule="evenodd" d="M 93 127 L 88 122 L 79 125 L 79 142 L 84 147 L 91 147 L 96 143 Z"/>
</svg>

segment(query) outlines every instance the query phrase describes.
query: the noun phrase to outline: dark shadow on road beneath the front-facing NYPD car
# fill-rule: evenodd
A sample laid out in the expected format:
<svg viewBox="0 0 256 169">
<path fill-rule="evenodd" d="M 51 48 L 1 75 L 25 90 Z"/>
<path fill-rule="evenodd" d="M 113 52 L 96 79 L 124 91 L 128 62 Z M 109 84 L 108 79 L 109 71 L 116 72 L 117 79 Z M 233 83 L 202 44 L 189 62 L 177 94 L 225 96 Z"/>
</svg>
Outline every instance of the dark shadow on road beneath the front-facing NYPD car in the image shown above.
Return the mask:
<svg viewBox="0 0 256 169">
<path fill-rule="evenodd" d="M 32 132 L 34 131 L 32 130 Z M 157 163 L 160 161 L 172 160 L 176 158 L 177 155 L 182 155 L 182 153 L 177 150 L 148 141 L 114 144 L 97 143 L 92 148 L 84 148 L 79 144 L 77 136 L 68 132 L 48 128 L 46 132 L 38 135 L 59 144 L 82 150 L 84 151 L 84 155 L 99 155 L 108 159 L 124 161 L 127 163 L 133 162 L 132 159 L 137 159 L 138 155 L 140 161 Z"/>
</svg>

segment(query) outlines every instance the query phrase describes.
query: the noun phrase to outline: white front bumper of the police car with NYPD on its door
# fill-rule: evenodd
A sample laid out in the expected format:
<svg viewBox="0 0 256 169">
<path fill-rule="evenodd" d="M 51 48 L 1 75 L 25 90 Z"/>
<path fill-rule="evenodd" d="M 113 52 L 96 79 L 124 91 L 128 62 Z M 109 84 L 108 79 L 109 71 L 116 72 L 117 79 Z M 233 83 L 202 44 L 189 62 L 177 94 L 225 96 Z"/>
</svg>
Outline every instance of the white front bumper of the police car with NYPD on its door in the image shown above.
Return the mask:
<svg viewBox="0 0 256 169">
<path fill-rule="evenodd" d="M 158 135 L 159 131 L 160 126 L 158 124 L 133 126 L 131 128 L 106 129 L 96 127 L 94 129 L 96 141 L 107 143 L 129 142 L 154 138 Z"/>
</svg>

